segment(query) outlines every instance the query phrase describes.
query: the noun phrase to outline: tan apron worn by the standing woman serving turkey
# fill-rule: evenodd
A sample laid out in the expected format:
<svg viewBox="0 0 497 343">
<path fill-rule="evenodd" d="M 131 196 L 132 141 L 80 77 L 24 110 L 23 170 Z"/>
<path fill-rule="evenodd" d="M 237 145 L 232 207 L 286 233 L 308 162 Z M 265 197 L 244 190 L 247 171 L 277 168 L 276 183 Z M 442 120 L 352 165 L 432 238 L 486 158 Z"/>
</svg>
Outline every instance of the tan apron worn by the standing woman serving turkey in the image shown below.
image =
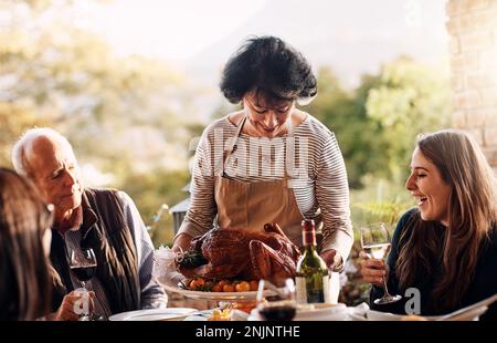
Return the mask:
<svg viewBox="0 0 497 343">
<path fill-rule="evenodd" d="M 234 139 L 226 147 L 222 160 L 221 173 L 215 177 L 214 193 L 218 206 L 218 225 L 221 228 L 243 228 L 247 230 L 264 230 L 266 222 L 277 222 L 285 235 L 302 248 L 302 220 L 304 216 L 298 208 L 295 193 L 289 183 L 286 165 L 284 178 L 281 180 L 243 183 L 224 177 L 228 162 L 236 145 L 246 117 L 240 121 Z M 288 138 L 293 138 L 294 128 L 289 119 Z M 286 160 L 294 158 L 293 139 L 287 139 Z M 290 159 L 292 158 L 292 159 Z M 288 164 L 289 165 L 289 164 Z M 338 301 L 340 291 L 339 276 L 330 274 L 330 300 Z"/>
</svg>

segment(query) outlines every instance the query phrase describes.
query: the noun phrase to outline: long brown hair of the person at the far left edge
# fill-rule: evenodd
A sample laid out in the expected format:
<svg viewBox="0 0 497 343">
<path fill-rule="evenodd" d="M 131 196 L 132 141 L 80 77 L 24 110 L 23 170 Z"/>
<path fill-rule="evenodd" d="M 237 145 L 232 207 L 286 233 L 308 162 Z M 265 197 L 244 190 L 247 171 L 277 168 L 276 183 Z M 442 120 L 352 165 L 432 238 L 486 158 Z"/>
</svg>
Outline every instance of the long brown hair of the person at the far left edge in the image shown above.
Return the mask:
<svg viewBox="0 0 497 343">
<path fill-rule="evenodd" d="M 0 168 L 1 320 L 34 320 L 50 312 L 53 278 L 43 236 L 51 225 L 35 187 Z"/>
</svg>

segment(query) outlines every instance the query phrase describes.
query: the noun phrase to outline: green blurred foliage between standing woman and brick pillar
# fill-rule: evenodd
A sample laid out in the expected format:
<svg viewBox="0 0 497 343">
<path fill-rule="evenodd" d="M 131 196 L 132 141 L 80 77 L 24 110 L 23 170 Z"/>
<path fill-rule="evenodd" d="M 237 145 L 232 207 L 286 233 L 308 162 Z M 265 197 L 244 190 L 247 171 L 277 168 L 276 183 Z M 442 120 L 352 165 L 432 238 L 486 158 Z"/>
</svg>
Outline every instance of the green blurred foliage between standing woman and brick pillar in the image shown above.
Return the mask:
<svg viewBox="0 0 497 343">
<path fill-rule="evenodd" d="M 364 75 L 352 92 L 322 67 L 318 90 L 306 110 L 335 132 L 352 188 L 368 175 L 402 183 L 416 135 L 448 125 L 447 79 L 406 58 Z"/>
</svg>

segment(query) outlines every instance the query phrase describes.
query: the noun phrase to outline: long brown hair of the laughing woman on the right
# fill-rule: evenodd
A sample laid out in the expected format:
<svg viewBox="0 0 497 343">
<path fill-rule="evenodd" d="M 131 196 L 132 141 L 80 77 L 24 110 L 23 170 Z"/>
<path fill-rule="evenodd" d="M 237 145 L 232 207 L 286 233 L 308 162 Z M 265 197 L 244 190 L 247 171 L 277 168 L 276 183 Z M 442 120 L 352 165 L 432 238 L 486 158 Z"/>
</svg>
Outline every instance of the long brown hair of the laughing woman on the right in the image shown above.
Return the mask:
<svg viewBox="0 0 497 343">
<path fill-rule="evenodd" d="M 417 147 L 452 188 L 448 228 L 423 221 L 419 212 L 412 216 L 401 237 L 395 269 L 402 288 L 424 273 L 438 277 L 432 291 L 434 309 L 453 310 L 467 291 L 483 243 L 497 222 L 496 177 L 478 145 L 462 132 L 421 136 Z"/>
</svg>

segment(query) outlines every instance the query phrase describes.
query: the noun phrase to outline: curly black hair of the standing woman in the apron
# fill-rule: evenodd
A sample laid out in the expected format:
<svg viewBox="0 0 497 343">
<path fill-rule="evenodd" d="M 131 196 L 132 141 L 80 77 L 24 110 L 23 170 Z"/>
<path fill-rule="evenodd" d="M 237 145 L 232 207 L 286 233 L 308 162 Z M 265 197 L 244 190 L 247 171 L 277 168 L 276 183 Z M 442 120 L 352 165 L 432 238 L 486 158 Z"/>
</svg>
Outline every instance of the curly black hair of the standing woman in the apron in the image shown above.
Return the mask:
<svg viewBox="0 0 497 343">
<path fill-rule="evenodd" d="M 233 104 L 250 91 L 269 100 L 294 101 L 317 94 L 310 64 L 276 37 L 248 39 L 224 66 L 220 89 Z"/>
</svg>

